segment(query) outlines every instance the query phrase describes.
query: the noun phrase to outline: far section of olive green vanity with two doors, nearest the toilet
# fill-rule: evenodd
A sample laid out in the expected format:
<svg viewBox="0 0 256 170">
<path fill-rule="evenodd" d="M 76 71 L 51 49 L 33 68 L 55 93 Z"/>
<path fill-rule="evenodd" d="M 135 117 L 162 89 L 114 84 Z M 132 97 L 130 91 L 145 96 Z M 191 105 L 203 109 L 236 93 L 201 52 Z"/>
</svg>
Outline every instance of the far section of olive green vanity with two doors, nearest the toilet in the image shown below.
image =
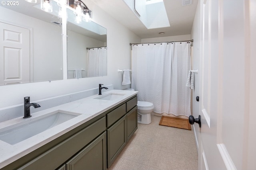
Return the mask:
<svg viewBox="0 0 256 170">
<path fill-rule="evenodd" d="M 138 128 L 137 96 L 107 113 L 107 167 L 109 168 Z"/>
</svg>

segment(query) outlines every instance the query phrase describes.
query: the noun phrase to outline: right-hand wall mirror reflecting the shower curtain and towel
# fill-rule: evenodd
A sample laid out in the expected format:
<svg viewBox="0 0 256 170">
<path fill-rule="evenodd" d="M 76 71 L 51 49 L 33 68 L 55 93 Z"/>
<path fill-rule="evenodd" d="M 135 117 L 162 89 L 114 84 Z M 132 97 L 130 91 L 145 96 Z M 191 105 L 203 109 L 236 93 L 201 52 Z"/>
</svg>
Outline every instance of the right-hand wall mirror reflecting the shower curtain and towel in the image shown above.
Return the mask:
<svg viewBox="0 0 256 170">
<path fill-rule="evenodd" d="M 107 75 L 107 30 L 67 9 L 68 79 Z"/>
</svg>

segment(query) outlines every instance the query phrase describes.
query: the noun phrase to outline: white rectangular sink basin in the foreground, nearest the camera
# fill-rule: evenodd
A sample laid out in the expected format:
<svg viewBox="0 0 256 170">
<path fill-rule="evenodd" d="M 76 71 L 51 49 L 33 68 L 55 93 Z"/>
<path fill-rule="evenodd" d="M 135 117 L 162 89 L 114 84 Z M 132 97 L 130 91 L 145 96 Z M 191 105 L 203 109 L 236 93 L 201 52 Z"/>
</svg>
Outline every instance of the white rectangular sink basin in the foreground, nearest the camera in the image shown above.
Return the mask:
<svg viewBox="0 0 256 170">
<path fill-rule="evenodd" d="M 38 117 L 32 115 L 31 118 L 24 119 L 20 123 L 0 129 L 0 140 L 15 145 L 78 115 L 80 114 L 60 110 Z"/>
</svg>

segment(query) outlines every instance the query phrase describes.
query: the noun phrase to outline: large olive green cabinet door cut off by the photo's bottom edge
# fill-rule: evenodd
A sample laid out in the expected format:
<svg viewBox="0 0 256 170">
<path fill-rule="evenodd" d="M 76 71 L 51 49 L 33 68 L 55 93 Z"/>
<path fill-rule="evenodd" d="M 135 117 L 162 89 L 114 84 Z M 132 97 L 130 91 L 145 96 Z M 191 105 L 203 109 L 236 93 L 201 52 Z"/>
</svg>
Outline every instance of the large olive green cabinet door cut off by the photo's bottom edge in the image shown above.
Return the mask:
<svg viewBox="0 0 256 170">
<path fill-rule="evenodd" d="M 106 170 L 106 132 L 69 160 L 66 170 Z"/>
</svg>

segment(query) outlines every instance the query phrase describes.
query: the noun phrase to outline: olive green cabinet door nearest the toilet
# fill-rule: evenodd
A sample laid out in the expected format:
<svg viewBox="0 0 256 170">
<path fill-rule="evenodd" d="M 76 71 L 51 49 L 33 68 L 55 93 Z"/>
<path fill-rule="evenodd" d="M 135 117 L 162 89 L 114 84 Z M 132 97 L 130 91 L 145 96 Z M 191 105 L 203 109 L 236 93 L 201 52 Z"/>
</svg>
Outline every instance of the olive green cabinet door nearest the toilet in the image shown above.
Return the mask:
<svg viewBox="0 0 256 170">
<path fill-rule="evenodd" d="M 129 111 L 127 117 L 127 141 L 130 140 L 134 132 L 138 129 L 138 110 L 137 106 Z"/>
</svg>

